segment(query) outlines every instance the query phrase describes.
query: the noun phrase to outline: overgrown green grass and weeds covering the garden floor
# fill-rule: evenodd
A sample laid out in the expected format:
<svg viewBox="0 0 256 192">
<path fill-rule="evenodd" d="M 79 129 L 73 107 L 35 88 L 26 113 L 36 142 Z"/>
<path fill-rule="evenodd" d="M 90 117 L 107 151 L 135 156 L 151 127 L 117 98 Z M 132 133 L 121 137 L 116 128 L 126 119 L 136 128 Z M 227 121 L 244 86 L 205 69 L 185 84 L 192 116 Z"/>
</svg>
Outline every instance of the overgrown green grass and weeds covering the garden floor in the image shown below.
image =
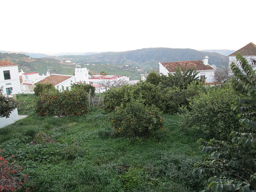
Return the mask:
<svg viewBox="0 0 256 192">
<path fill-rule="evenodd" d="M 19 110 L 19 109 L 18 109 Z M 154 137 L 116 137 L 109 114 L 25 119 L 0 129 L 2 156 L 28 174 L 30 191 L 199 191 L 192 174 L 202 154 L 199 136 L 183 132 L 179 116 L 164 115 L 165 132 Z M 32 188 L 33 186 L 33 188 Z M 22 189 L 21 189 L 22 191 Z"/>
</svg>

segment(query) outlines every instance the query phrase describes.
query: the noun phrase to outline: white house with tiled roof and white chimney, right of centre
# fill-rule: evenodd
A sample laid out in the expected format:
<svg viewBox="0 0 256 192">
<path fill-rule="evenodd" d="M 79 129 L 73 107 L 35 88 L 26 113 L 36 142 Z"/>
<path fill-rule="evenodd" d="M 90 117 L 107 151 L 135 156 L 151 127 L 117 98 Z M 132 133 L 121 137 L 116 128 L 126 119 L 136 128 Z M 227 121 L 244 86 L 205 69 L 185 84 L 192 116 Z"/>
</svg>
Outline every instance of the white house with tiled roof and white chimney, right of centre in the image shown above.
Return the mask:
<svg viewBox="0 0 256 192">
<path fill-rule="evenodd" d="M 190 60 L 190 61 L 174 61 L 174 62 L 159 62 L 159 73 L 160 75 L 168 76 L 168 73 L 175 73 L 175 68 L 182 67 L 187 68 L 194 67 L 198 73 L 200 79 L 206 78 L 206 83 L 214 82 L 214 71 L 211 65 L 208 64 L 208 56 L 204 56 L 204 60 Z"/>
</svg>

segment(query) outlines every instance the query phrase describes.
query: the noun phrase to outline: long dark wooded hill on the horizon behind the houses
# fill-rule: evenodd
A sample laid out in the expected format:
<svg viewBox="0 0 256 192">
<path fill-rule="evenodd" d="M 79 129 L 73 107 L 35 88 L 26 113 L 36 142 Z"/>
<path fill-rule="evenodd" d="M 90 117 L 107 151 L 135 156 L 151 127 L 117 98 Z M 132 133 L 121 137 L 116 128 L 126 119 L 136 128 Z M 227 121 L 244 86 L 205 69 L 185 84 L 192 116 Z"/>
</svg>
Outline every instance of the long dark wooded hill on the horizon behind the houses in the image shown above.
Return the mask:
<svg viewBox="0 0 256 192">
<path fill-rule="evenodd" d="M 203 60 L 209 56 L 209 64 L 220 66 L 227 56 L 214 52 L 202 52 L 194 49 L 145 48 L 126 52 L 104 52 L 93 55 L 62 55 L 61 58 L 89 64 L 119 64 L 140 67 L 156 67 L 159 62 Z"/>
</svg>

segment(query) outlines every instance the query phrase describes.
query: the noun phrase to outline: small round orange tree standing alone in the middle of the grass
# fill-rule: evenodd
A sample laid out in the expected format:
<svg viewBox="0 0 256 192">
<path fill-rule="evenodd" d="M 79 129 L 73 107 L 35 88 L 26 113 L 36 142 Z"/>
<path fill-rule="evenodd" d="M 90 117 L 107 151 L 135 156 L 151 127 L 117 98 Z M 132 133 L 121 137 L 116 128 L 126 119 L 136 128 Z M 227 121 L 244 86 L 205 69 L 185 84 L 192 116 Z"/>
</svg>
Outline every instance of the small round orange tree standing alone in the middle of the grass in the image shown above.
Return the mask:
<svg viewBox="0 0 256 192">
<path fill-rule="evenodd" d="M 162 129 L 162 113 L 158 108 L 145 106 L 142 100 L 132 100 L 126 107 L 120 106 L 109 117 L 112 127 L 121 136 L 145 136 Z"/>
</svg>

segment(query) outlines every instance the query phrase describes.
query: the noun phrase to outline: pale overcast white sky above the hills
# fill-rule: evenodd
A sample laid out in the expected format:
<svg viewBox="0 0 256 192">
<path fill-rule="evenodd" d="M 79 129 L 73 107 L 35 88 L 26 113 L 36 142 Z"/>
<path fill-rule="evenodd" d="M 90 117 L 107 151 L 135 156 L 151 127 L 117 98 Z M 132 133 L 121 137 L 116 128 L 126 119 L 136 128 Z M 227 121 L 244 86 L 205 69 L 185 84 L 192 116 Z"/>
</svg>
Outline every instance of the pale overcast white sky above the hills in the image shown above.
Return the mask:
<svg viewBox="0 0 256 192">
<path fill-rule="evenodd" d="M 5 0 L 0 50 L 231 49 L 256 44 L 255 0 Z"/>
</svg>

